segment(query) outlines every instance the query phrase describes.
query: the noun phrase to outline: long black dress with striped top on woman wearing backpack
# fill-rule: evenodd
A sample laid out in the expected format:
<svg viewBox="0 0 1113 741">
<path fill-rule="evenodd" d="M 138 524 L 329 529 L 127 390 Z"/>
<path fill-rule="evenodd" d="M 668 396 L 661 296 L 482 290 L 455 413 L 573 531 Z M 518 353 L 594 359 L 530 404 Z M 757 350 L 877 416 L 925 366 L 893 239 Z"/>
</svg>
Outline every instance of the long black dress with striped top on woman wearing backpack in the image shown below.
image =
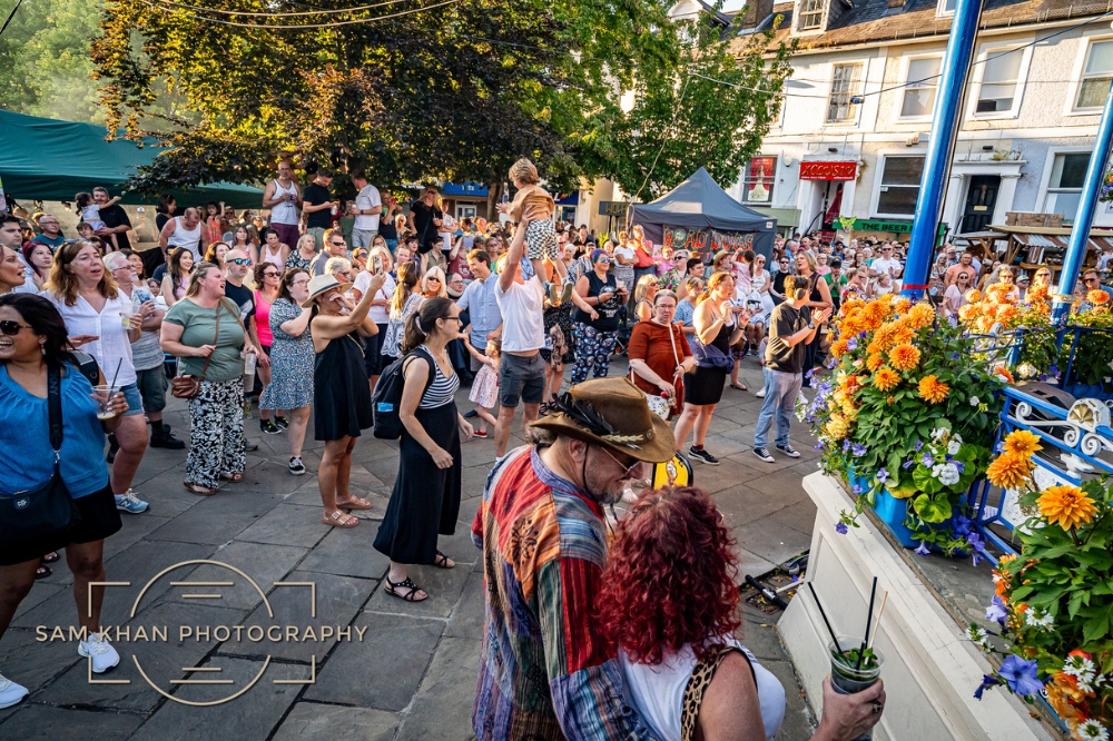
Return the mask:
<svg viewBox="0 0 1113 741">
<path fill-rule="evenodd" d="M 402 428 L 398 477 L 375 536 L 375 550 L 395 563 L 433 563 L 437 535 L 452 535 L 460 516 L 460 427 L 452 398 L 460 379 L 455 373 L 445 376 L 429 350 L 426 359 L 436 368 L 436 377 L 414 414 L 433 442 L 452 456 L 452 465 L 437 468 L 433 456 Z M 445 398 L 437 406 L 421 406 Z"/>
</svg>

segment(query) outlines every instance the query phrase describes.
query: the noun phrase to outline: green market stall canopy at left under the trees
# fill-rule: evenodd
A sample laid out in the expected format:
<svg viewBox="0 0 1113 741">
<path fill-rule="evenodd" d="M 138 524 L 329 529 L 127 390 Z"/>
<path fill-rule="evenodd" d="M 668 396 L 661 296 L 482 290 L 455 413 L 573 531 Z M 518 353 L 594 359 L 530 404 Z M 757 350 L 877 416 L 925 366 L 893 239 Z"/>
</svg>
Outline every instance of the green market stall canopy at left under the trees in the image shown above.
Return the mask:
<svg viewBox="0 0 1113 741">
<path fill-rule="evenodd" d="M 132 141 L 106 141 L 102 126 L 58 121 L 0 110 L 0 180 L 17 201 L 67 200 L 95 187 L 114 196 L 140 165 L 161 149 Z M 232 182 L 213 182 L 186 191 L 170 190 L 179 201 L 224 201 L 234 208 L 259 208 L 263 190 Z M 125 204 L 152 204 L 157 195 L 124 194 Z"/>
</svg>

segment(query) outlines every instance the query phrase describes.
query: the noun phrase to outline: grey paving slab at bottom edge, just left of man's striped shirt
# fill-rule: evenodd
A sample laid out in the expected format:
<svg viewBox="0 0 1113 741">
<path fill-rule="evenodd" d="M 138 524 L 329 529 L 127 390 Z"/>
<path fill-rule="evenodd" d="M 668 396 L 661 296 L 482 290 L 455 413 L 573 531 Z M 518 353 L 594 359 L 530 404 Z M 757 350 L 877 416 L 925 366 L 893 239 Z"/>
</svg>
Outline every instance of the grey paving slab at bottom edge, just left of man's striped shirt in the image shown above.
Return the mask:
<svg viewBox="0 0 1113 741">
<path fill-rule="evenodd" d="M 413 707 L 402 721 L 397 741 L 467 741 L 475 738 L 471 724 L 461 723 L 459 719 L 471 715 L 475 704 L 479 661 L 479 641 L 442 639 Z"/>
</svg>

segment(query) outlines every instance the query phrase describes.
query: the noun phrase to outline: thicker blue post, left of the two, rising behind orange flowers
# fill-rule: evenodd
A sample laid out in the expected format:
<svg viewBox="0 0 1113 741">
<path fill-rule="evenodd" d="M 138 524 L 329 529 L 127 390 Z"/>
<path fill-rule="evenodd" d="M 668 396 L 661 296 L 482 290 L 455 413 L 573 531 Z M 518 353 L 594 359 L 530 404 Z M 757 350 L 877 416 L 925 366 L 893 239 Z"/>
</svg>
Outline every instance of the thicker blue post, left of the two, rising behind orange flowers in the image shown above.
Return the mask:
<svg viewBox="0 0 1113 741">
<path fill-rule="evenodd" d="M 913 217 L 908 243 L 908 261 L 904 273 L 904 295 L 914 300 L 927 290 L 927 276 L 935 254 L 935 239 L 943 199 L 947 192 L 947 174 L 955 152 L 955 139 L 963 120 L 963 98 L 983 0 L 958 0 L 955 18 L 943 58 L 938 92 L 932 111 L 932 135 L 919 180 L 919 198 Z"/>
</svg>

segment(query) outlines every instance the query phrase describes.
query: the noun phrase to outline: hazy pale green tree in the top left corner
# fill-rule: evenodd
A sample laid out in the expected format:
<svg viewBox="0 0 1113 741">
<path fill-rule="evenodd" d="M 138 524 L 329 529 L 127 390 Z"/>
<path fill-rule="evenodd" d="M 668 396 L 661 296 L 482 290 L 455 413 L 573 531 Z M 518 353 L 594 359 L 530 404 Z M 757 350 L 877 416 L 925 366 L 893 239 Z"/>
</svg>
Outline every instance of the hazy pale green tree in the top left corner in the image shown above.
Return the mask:
<svg viewBox="0 0 1113 741">
<path fill-rule="evenodd" d="M 6 6 L 0 22 L 11 11 Z M 0 36 L 0 108 L 102 121 L 89 57 L 102 8 L 104 0 L 23 0 Z"/>
</svg>

